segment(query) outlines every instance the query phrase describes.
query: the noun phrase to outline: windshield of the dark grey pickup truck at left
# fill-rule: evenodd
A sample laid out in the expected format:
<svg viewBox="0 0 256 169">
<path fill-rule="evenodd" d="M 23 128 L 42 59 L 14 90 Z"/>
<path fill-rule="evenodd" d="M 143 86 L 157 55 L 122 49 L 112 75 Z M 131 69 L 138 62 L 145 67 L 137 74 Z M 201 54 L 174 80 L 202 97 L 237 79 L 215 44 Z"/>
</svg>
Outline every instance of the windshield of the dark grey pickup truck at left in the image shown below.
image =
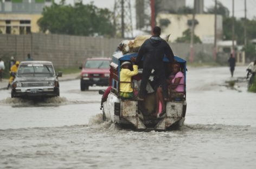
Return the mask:
<svg viewBox="0 0 256 169">
<path fill-rule="evenodd" d="M 18 68 L 18 75 L 37 75 L 50 74 L 54 75 L 53 66 L 50 64 L 22 64 Z"/>
</svg>

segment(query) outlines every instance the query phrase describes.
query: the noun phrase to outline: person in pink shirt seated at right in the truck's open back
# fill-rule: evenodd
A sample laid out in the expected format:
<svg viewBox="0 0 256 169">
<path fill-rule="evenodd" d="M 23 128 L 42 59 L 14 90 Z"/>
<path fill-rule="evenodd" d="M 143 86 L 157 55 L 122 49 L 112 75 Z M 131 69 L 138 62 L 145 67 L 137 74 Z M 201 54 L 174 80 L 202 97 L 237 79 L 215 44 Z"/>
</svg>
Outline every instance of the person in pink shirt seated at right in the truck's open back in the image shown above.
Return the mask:
<svg viewBox="0 0 256 169">
<path fill-rule="evenodd" d="M 168 90 L 170 92 L 170 98 L 183 97 L 184 75 L 180 71 L 180 64 L 175 63 L 172 65 L 172 74 L 169 76 L 167 83 L 168 83 Z M 152 114 L 152 116 L 158 116 L 158 113 L 160 112 L 159 109 L 162 109 L 161 113 L 159 113 L 159 118 L 163 117 L 166 112 L 166 107 L 165 107 L 162 92 L 163 92 L 162 87 L 159 86 L 156 92 L 156 113 Z"/>
</svg>

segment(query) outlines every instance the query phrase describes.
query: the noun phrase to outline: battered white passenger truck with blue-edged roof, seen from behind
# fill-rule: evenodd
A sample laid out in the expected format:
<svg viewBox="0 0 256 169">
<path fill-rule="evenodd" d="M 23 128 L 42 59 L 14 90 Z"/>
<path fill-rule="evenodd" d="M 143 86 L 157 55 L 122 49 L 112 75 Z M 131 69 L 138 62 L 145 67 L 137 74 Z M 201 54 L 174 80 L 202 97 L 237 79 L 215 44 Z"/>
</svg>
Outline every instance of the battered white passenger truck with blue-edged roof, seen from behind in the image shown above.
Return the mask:
<svg viewBox="0 0 256 169">
<path fill-rule="evenodd" d="M 145 96 L 144 101 L 137 101 L 135 98 L 130 100 L 123 100 L 119 96 L 120 83 L 120 63 L 123 61 L 130 61 L 131 57 L 137 57 L 137 53 L 130 53 L 123 55 L 117 53 L 113 55 L 111 62 L 112 85 L 107 99 L 101 102 L 101 109 L 103 110 L 103 119 L 111 120 L 112 122 L 121 126 L 129 126 L 136 130 L 156 130 L 164 131 L 171 127 L 181 126 L 185 120 L 185 113 L 187 108 L 185 81 L 186 81 L 186 61 L 180 57 L 175 56 L 176 62 L 180 63 L 180 71 L 184 75 L 184 92 L 182 98 L 171 98 L 166 102 L 166 113 L 163 118 L 155 118 L 150 116 L 156 109 L 155 93 Z M 164 57 L 164 62 L 168 64 L 167 58 Z M 139 69 L 139 73 L 142 69 Z M 105 90 L 99 90 L 99 94 L 104 94 Z"/>
</svg>

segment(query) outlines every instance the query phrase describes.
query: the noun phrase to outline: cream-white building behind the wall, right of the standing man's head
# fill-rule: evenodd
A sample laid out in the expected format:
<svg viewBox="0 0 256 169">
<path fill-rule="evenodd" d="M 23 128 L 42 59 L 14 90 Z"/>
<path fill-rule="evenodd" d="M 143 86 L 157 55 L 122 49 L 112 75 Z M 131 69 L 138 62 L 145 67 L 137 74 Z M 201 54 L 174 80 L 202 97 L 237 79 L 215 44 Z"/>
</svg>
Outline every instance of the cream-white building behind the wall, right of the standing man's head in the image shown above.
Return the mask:
<svg viewBox="0 0 256 169">
<path fill-rule="evenodd" d="M 168 19 L 170 23 L 161 26 L 162 34 L 171 34 L 169 41 L 175 42 L 178 37 L 183 36 L 183 31 L 191 28 L 191 14 L 158 14 L 157 25 L 160 25 L 161 19 Z M 200 37 L 202 43 L 214 43 L 214 15 L 197 14 L 195 15 L 195 35 Z M 222 40 L 222 16 L 217 15 L 217 41 Z"/>
</svg>

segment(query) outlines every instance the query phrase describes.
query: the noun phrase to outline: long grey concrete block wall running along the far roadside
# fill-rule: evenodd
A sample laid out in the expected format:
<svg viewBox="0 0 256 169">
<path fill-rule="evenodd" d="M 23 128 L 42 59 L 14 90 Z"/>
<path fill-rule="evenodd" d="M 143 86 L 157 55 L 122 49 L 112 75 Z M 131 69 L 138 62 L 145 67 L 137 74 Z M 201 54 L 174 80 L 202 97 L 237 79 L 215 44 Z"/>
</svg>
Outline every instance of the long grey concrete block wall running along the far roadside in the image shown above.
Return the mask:
<svg viewBox="0 0 256 169">
<path fill-rule="evenodd" d="M 34 60 L 52 61 L 56 68 L 78 67 L 88 57 L 112 57 L 121 39 L 69 35 L 0 35 L 0 57 L 14 56 L 24 61 L 30 53 Z M 174 54 L 186 60 L 190 44 L 170 43 Z M 195 44 L 195 61 L 213 61 L 213 46 Z"/>
</svg>

